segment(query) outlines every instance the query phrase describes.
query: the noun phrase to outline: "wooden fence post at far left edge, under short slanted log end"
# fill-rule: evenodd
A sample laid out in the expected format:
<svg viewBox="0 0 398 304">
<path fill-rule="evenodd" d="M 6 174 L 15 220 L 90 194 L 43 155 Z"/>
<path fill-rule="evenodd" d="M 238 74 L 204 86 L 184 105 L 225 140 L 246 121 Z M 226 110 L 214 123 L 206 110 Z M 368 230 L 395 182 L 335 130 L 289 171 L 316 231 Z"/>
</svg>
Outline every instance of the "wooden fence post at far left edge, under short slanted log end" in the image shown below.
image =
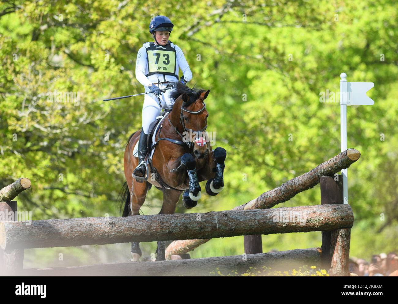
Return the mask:
<svg viewBox="0 0 398 304">
<path fill-rule="evenodd" d="M 8 221 L 9 215 L 14 214 L 14 221 L 18 220 L 17 202 L 1 201 L 0 213 L 4 220 Z M 14 249 L 10 252 L 3 251 L 0 248 L 0 275 L 18 275 L 23 268 L 23 249 Z"/>
</svg>

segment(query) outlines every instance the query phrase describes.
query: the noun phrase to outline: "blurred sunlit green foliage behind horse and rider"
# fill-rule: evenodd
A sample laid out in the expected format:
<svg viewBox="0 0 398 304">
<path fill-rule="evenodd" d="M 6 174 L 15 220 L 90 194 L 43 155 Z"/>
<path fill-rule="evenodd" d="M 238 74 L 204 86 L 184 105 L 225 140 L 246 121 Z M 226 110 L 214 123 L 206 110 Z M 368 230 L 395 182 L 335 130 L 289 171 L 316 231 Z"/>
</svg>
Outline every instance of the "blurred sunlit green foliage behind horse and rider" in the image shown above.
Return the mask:
<svg viewBox="0 0 398 304">
<path fill-rule="evenodd" d="M 213 148 L 228 153 L 224 191 L 203 195 L 189 212 L 231 209 L 338 154 L 339 105 L 320 103 L 320 92 L 337 92 L 345 72 L 348 81 L 375 83 L 368 93 L 375 105 L 347 110 L 348 146 L 361 152 L 348 170 L 351 256 L 369 260 L 396 251 L 397 6 L 392 0 L 2 1 L 0 187 L 30 178 L 18 206 L 33 211 L 33 219 L 119 215 L 124 145 L 141 126 L 143 99 L 101 100 L 143 91 L 135 79 L 137 50 L 151 39 L 150 18 L 161 14 L 175 25 L 170 40 L 191 67 L 190 85 L 211 90 L 208 130 L 216 132 Z M 53 90 L 79 92 L 79 105 L 48 102 Z M 152 188 L 142 212 L 158 213 L 161 202 Z M 283 205 L 319 203 L 316 186 Z M 185 212 L 181 203 L 177 212 Z M 265 252 L 316 246 L 320 233 L 263 236 Z M 141 247 L 149 254 L 156 244 Z M 99 247 L 27 250 L 25 261 L 61 265 L 59 253 L 72 265 L 129 258 L 128 244 L 103 248 L 101 258 Z M 213 239 L 191 256 L 242 253 L 243 237 L 233 237 Z"/>
</svg>

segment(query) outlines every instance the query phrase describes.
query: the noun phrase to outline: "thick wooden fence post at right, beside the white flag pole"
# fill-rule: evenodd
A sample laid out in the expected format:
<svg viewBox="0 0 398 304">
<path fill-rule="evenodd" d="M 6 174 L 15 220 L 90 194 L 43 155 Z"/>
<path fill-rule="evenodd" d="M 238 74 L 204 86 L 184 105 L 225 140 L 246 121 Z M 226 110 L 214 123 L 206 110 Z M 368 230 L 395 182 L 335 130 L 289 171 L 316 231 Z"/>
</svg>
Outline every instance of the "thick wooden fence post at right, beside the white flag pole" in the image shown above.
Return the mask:
<svg viewBox="0 0 398 304">
<path fill-rule="evenodd" d="M 321 176 L 321 205 L 343 203 L 343 178 L 338 176 Z M 349 276 L 349 243 L 351 229 L 322 231 L 321 265 L 332 276 Z"/>
</svg>

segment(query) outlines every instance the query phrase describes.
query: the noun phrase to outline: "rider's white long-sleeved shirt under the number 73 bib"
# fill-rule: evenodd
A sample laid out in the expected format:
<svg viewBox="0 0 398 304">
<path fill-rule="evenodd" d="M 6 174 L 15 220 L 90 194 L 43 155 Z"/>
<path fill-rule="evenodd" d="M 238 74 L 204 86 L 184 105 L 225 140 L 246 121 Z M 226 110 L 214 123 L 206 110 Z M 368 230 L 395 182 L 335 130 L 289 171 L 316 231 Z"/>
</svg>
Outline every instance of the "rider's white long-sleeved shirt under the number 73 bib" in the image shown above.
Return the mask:
<svg viewBox="0 0 398 304">
<path fill-rule="evenodd" d="M 156 44 L 156 43 L 155 43 Z M 176 74 L 178 74 L 179 69 L 181 69 L 184 79 L 186 82 L 192 79 L 192 72 L 189 69 L 189 65 L 187 60 L 185 59 L 184 53 L 180 49 L 178 45 L 172 43 L 172 46 L 176 49 Z M 142 47 L 138 50 L 137 53 L 137 63 L 135 65 L 135 78 L 144 86 L 145 90 L 147 91 L 148 86 L 152 83 L 158 83 L 165 81 L 176 82 L 178 79 L 172 75 L 164 75 L 161 73 L 156 73 L 152 75 L 145 75 L 148 74 L 148 63 L 146 59 L 146 48 L 149 47 L 149 42 L 146 42 L 142 45 Z"/>
</svg>

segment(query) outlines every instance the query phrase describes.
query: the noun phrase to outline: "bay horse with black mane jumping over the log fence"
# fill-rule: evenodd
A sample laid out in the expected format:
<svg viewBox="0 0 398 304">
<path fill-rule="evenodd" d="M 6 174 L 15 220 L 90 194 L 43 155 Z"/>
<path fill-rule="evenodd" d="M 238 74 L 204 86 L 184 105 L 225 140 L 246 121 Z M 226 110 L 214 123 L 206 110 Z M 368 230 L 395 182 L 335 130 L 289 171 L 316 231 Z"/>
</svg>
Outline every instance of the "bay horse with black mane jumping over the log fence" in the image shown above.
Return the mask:
<svg viewBox="0 0 398 304">
<path fill-rule="evenodd" d="M 124 152 L 126 182 L 120 192 L 121 204 L 124 203 L 122 216 L 139 215 L 152 185 L 163 192 L 159 214 L 173 214 L 181 193 L 183 205 L 187 209 L 195 207 L 201 195 L 199 182 L 207 180 L 206 192 L 213 196 L 224 187 L 226 150 L 221 147 L 212 150 L 205 132 L 209 113 L 204 100 L 210 90 L 190 89 L 180 82 L 173 86 L 170 96 L 174 105 L 155 131 L 156 147 L 144 181 L 133 178 L 139 161 L 133 150 L 141 131 L 131 134 L 127 141 Z M 148 151 L 150 153 L 150 148 Z M 156 261 L 165 260 L 164 246 L 164 241 L 158 241 Z M 139 261 L 142 255 L 139 242 L 131 243 L 131 255 L 132 261 Z"/>
</svg>

